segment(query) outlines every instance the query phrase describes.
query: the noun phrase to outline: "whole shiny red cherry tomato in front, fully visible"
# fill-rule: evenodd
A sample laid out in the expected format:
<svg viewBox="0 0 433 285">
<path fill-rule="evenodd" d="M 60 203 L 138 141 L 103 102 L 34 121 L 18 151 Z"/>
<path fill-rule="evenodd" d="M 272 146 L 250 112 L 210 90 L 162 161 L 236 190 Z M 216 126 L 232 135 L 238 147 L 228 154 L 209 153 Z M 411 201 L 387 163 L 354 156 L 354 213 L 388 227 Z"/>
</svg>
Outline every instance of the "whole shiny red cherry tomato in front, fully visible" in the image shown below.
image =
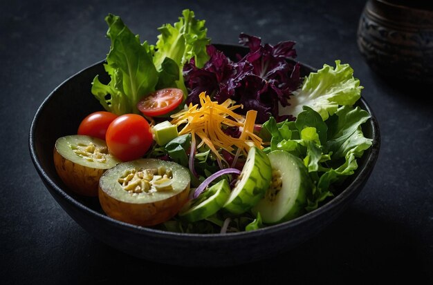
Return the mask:
<svg viewBox="0 0 433 285">
<path fill-rule="evenodd" d="M 111 122 L 105 140 L 112 155 L 122 161 L 130 161 L 147 153 L 153 137 L 145 118 L 126 114 Z"/>
</svg>

